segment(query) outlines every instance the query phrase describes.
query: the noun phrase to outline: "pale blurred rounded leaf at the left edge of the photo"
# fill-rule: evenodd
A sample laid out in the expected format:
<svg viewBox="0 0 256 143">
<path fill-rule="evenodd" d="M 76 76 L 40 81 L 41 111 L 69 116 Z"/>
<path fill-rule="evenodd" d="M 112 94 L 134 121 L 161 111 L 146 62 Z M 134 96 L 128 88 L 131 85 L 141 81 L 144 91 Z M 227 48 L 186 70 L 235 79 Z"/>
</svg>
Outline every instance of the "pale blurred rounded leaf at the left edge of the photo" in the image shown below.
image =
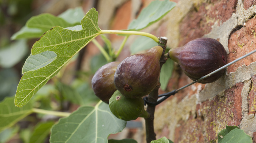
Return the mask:
<svg viewBox="0 0 256 143">
<path fill-rule="evenodd" d="M 27 40 L 15 41 L 0 50 L 0 67 L 11 68 L 28 53 Z"/>
</svg>

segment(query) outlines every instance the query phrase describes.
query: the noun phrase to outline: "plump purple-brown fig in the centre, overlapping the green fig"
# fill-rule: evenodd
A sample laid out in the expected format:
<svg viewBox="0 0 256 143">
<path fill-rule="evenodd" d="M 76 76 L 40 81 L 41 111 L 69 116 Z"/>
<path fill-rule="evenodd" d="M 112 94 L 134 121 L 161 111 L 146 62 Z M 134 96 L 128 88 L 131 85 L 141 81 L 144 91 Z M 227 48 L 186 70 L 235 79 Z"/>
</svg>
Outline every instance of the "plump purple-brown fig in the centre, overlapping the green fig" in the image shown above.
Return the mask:
<svg viewBox="0 0 256 143">
<path fill-rule="evenodd" d="M 158 84 L 162 47 L 155 46 L 148 52 L 125 58 L 117 66 L 114 84 L 122 95 L 139 98 L 149 94 Z"/>
</svg>

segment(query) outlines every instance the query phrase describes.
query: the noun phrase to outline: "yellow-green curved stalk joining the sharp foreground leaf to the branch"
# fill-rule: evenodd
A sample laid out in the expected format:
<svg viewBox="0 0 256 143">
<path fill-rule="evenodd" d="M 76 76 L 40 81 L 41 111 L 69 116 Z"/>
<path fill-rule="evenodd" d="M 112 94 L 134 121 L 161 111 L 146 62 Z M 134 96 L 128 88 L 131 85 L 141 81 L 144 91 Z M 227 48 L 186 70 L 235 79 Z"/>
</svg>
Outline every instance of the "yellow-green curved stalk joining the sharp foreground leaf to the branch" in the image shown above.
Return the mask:
<svg viewBox="0 0 256 143">
<path fill-rule="evenodd" d="M 159 39 L 150 33 L 146 33 L 146 32 L 140 32 L 140 31 L 124 31 L 124 30 L 101 30 L 100 34 L 128 34 L 128 35 L 141 35 L 141 36 L 146 36 L 149 37 L 151 39 L 153 39 L 154 41 L 156 41 L 157 43 L 159 42 Z"/>
</svg>

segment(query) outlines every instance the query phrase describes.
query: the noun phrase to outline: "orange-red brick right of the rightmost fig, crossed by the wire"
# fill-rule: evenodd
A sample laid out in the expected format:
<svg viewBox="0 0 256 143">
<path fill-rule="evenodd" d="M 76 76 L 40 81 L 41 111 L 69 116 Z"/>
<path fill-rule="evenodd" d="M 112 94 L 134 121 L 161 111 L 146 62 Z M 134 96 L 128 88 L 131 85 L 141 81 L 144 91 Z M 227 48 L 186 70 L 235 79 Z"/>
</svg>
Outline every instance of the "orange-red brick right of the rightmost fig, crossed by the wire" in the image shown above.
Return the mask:
<svg viewBox="0 0 256 143">
<path fill-rule="evenodd" d="M 256 17 L 246 22 L 246 26 L 231 34 L 228 40 L 229 54 L 227 63 L 256 49 Z M 228 73 L 234 72 L 242 65 L 250 65 L 256 61 L 256 53 L 230 65 L 227 68 Z"/>
</svg>

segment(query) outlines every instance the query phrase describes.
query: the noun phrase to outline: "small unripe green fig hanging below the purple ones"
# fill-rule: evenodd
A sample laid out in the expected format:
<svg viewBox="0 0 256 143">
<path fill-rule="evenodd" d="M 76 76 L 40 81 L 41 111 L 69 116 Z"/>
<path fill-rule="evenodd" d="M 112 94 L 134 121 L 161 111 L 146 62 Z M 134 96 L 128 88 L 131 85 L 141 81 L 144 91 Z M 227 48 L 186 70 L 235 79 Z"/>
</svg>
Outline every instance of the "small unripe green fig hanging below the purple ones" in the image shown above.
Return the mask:
<svg viewBox="0 0 256 143">
<path fill-rule="evenodd" d="M 138 117 L 149 117 L 144 110 L 142 98 L 126 98 L 118 90 L 109 99 L 110 111 L 118 118 L 125 121 L 134 120 Z"/>
</svg>

